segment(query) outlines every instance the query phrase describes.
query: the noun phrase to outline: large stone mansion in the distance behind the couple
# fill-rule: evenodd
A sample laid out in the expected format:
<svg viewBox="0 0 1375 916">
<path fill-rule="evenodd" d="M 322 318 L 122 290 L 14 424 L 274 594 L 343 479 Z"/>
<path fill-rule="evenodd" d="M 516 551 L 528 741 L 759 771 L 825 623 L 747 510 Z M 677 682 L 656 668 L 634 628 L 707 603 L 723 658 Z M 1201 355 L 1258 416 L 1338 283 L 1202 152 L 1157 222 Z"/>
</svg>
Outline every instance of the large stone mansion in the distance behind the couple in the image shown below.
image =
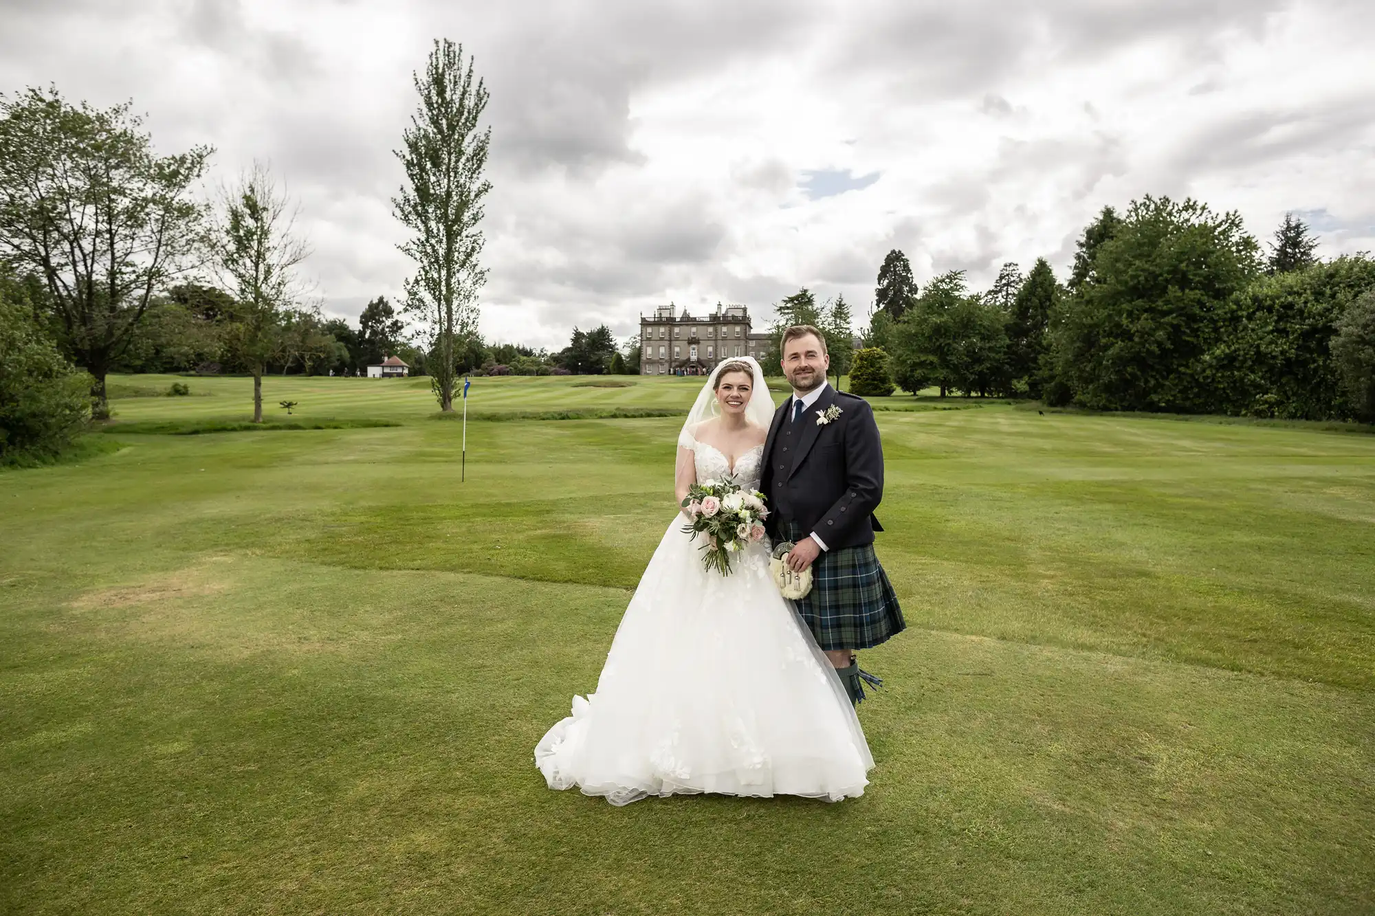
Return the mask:
<svg viewBox="0 0 1375 916">
<path fill-rule="evenodd" d="M 716 304 L 705 318 L 693 318 L 685 308 L 660 305 L 653 315 L 639 316 L 639 371 L 642 375 L 705 375 L 716 363 L 732 356 L 763 359 L 769 333 L 749 330 L 749 309 Z"/>
</svg>

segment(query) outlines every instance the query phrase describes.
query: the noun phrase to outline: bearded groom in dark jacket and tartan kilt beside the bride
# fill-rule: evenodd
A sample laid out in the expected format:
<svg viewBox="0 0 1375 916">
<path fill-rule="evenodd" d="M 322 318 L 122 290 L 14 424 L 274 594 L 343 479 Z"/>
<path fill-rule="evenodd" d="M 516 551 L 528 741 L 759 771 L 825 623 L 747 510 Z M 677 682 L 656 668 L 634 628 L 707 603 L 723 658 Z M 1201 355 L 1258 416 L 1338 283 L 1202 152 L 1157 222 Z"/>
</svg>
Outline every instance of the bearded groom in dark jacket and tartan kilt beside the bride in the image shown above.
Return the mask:
<svg viewBox="0 0 1375 916">
<path fill-rule="evenodd" d="M 879 678 L 859 670 L 857 649 L 901 633 L 898 596 L 873 553 L 883 531 L 883 446 L 869 402 L 826 384 L 826 340 L 810 325 L 782 333 L 782 373 L 792 397 L 774 413 L 760 488 L 769 534 L 792 541 L 788 565 L 811 567 L 811 593 L 795 602 L 852 703 Z"/>
</svg>

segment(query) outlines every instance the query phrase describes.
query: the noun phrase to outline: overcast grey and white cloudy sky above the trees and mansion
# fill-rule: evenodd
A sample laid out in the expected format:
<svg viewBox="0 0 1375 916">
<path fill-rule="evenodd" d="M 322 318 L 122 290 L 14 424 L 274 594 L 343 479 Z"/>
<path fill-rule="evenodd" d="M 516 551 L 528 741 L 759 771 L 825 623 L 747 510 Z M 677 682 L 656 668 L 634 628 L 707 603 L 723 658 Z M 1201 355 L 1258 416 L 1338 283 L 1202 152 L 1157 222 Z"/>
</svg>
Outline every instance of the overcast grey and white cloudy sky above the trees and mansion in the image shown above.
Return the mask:
<svg viewBox="0 0 1375 916">
<path fill-rule="evenodd" d="M 326 311 L 395 297 L 411 72 L 450 37 L 491 91 L 488 338 L 674 301 L 760 318 L 810 286 L 862 319 L 884 254 L 918 282 L 1045 256 L 1104 204 L 1194 195 L 1268 238 L 1375 249 L 1368 0 L 0 0 L 0 89 L 146 111 L 267 160 Z"/>
</svg>

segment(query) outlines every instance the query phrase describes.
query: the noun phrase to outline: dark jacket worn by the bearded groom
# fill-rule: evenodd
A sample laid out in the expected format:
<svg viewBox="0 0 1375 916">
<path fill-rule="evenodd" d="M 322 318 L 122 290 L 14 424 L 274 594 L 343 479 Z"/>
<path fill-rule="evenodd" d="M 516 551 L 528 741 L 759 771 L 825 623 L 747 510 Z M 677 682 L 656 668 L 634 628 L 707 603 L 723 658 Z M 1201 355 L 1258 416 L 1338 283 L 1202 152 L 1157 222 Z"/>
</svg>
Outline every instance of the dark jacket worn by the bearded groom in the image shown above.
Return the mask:
<svg viewBox="0 0 1375 916">
<path fill-rule="evenodd" d="M 818 411 L 832 406 L 840 414 L 818 424 Z M 759 488 L 769 501 L 770 536 L 778 539 L 778 523 L 786 519 L 815 532 L 828 550 L 873 543 L 873 532 L 883 531 L 873 516 L 883 499 L 883 443 L 869 402 L 826 385 L 800 419 L 792 413 L 789 396 L 764 440 Z"/>
</svg>

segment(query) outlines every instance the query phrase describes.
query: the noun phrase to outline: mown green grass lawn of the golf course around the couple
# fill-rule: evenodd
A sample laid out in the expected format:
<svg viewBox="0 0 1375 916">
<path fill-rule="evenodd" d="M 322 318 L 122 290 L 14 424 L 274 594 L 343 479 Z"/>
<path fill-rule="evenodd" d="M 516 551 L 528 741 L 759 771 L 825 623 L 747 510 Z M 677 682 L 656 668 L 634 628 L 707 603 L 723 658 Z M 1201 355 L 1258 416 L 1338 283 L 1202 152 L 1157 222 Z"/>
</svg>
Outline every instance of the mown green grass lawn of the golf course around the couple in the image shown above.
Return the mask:
<svg viewBox="0 0 1375 916">
<path fill-rule="evenodd" d="M 615 809 L 532 750 L 679 421 L 522 417 L 697 382 L 586 381 L 474 380 L 466 483 L 428 380 L 129 432 L 245 418 L 192 378 L 0 473 L 0 912 L 1375 912 L 1375 436 L 888 399 L 865 796 Z"/>
</svg>

